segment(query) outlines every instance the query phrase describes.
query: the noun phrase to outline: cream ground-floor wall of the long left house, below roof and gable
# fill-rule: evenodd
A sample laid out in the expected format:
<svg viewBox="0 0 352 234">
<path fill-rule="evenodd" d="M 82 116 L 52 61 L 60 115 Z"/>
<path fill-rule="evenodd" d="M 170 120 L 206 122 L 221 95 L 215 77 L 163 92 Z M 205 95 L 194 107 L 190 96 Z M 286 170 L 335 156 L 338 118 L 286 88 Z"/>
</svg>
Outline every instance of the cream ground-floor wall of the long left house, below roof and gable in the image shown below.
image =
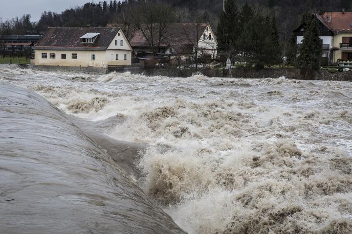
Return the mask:
<svg viewBox="0 0 352 234">
<path fill-rule="evenodd" d="M 41 58 L 42 53 L 47 53 L 48 58 Z M 55 54 L 55 59 L 50 58 L 50 54 Z M 61 59 L 61 54 L 66 55 L 66 59 Z M 72 54 L 77 54 L 77 59 L 72 58 Z M 91 55 L 95 55 L 95 60 L 91 60 Z M 116 60 L 116 54 L 119 60 Z M 126 54 L 127 59 L 124 60 Z M 108 50 L 108 51 L 58 51 L 58 50 L 35 50 L 35 65 L 50 66 L 94 66 L 106 67 L 107 65 L 131 65 L 131 51 Z"/>
</svg>

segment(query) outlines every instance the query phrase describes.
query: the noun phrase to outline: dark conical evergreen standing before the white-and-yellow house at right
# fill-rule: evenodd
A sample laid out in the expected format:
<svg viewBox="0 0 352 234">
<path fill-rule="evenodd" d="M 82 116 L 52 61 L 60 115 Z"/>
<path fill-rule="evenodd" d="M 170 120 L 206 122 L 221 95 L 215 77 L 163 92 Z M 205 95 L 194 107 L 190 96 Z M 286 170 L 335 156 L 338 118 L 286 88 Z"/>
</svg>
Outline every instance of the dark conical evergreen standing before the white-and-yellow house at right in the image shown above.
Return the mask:
<svg viewBox="0 0 352 234">
<path fill-rule="evenodd" d="M 311 20 L 308 27 L 304 29 L 302 44 L 299 49 L 299 64 L 301 66 L 311 65 L 313 69 L 320 68 L 322 54 L 322 43 L 319 37 L 318 21 Z"/>
</svg>

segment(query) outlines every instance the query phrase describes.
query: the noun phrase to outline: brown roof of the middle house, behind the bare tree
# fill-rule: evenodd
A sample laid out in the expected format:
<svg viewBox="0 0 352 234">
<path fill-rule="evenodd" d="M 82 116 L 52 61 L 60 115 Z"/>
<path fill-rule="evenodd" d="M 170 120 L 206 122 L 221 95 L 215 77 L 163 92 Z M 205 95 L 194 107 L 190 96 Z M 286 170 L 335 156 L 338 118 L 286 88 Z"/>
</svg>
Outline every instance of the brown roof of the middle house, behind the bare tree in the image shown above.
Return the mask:
<svg viewBox="0 0 352 234">
<path fill-rule="evenodd" d="M 208 24 L 206 23 L 171 24 L 165 33 L 166 38 L 162 41 L 160 46 L 166 47 L 169 44 L 195 44 L 201 39 L 207 26 Z M 131 38 L 130 44 L 133 47 L 149 46 L 149 43 L 141 30 L 137 30 L 133 38 Z"/>
</svg>

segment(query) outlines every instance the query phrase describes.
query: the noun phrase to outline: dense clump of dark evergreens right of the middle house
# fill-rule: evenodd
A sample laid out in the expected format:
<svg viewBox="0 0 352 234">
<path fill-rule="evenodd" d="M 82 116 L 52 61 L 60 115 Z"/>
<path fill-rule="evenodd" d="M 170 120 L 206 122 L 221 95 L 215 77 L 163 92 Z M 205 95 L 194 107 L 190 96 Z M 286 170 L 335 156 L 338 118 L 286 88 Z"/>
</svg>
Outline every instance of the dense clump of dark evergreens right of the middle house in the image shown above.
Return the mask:
<svg viewBox="0 0 352 234">
<path fill-rule="evenodd" d="M 219 52 L 236 61 L 262 68 L 281 62 L 281 43 L 274 15 L 266 15 L 248 3 L 240 9 L 234 0 L 225 2 L 217 26 Z"/>
</svg>

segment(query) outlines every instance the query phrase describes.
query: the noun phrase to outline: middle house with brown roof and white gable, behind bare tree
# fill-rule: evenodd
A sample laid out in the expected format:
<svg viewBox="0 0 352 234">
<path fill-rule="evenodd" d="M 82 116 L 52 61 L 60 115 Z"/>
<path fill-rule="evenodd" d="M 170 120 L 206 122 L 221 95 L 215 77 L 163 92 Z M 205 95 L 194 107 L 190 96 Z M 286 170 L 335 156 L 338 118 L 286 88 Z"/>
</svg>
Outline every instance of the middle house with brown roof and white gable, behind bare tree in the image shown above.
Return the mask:
<svg viewBox="0 0 352 234">
<path fill-rule="evenodd" d="M 137 30 L 130 40 L 136 57 L 152 56 L 148 40 L 141 30 Z M 217 56 L 217 40 L 207 23 L 170 24 L 159 45 L 158 55 L 189 57 L 195 51 L 199 56 Z"/>
</svg>

